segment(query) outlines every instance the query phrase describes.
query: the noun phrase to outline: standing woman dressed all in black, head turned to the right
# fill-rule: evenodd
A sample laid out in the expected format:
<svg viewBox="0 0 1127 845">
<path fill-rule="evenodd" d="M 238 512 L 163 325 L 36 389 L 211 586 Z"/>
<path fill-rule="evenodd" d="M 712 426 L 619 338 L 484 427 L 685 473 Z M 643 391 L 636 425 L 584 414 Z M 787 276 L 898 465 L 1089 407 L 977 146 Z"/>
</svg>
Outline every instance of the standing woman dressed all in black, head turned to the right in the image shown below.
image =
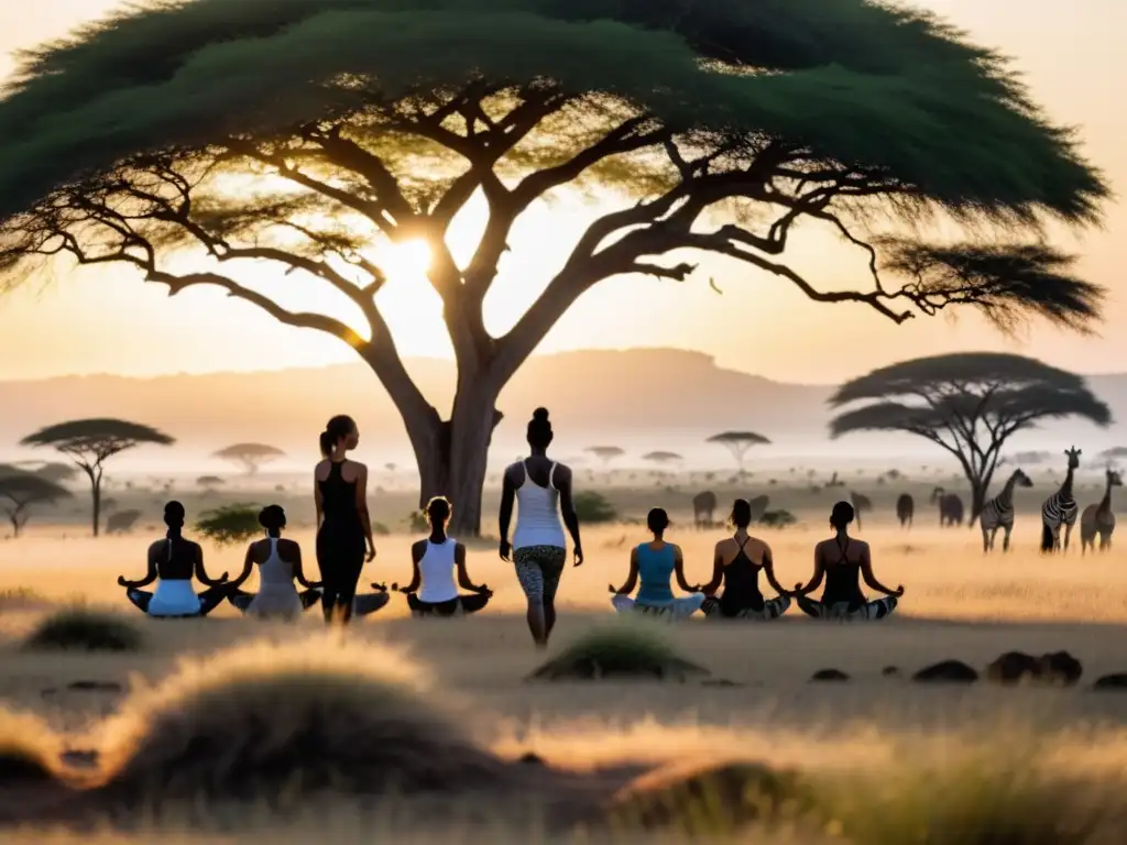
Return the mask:
<svg viewBox="0 0 1127 845">
<path fill-rule="evenodd" d="M 325 589 L 325 621 L 329 624 L 336 619 L 341 624 L 352 620 L 361 570 L 365 560 L 375 558 L 367 514 L 367 466 L 347 457 L 358 443 L 360 429 L 353 418 L 334 417 L 321 433 L 325 460 L 313 470 L 317 564 Z"/>
</svg>

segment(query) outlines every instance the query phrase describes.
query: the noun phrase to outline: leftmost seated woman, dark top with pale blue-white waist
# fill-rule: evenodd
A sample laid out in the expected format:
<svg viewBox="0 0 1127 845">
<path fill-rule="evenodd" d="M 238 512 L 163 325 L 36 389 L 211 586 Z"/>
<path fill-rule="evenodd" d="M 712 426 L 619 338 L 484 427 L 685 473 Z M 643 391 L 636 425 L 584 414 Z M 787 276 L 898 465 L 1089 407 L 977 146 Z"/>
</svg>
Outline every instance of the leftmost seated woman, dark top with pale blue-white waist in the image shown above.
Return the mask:
<svg viewBox="0 0 1127 845">
<path fill-rule="evenodd" d="M 130 602 L 150 616 L 206 616 L 227 596 L 227 572 L 214 580 L 207 577 L 203 549 L 181 535 L 184 505 L 178 501 L 165 505 L 165 525 L 168 526 L 166 537 L 149 546 L 149 571 L 145 577 L 140 581 L 127 581 L 121 576 L 117 584 L 125 587 Z M 193 573 L 208 587 L 199 595 L 192 589 Z M 141 589 L 153 581 L 157 581 L 156 592 L 147 593 Z"/>
</svg>

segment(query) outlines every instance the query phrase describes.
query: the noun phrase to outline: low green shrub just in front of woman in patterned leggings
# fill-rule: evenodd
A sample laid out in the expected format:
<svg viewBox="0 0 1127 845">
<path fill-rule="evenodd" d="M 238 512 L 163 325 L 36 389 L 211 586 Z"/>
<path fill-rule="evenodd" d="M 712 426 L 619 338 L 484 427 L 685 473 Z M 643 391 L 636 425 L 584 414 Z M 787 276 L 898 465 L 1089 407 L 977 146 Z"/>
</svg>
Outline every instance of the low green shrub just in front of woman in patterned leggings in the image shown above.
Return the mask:
<svg viewBox="0 0 1127 845">
<path fill-rule="evenodd" d="M 616 620 L 592 629 L 531 677 L 598 679 L 610 677 L 680 678 L 708 675 L 676 653 L 656 623 Z"/>
</svg>

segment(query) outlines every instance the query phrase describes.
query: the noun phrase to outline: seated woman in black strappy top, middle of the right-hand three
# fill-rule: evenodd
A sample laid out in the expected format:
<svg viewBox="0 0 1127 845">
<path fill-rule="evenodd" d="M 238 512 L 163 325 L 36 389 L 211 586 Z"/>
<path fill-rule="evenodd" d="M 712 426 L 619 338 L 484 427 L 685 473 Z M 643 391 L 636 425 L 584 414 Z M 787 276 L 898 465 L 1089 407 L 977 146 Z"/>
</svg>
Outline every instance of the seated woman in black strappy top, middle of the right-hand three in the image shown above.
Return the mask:
<svg viewBox="0 0 1127 845">
<path fill-rule="evenodd" d="M 752 506 L 746 499 L 736 499 L 731 506 L 731 524 L 736 533 L 716 544 L 712 559 L 712 580 L 698 587 L 704 599 L 704 615 L 710 619 L 773 620 L 790 607 L 790 593 L 775 579 L 771 546 L 747 533 L 752 524 Z M 765 599 L 760 592 L 760 571 L 779 594 Z M 716 592 L 724 585 L 724 593 Z"/>
</svg>

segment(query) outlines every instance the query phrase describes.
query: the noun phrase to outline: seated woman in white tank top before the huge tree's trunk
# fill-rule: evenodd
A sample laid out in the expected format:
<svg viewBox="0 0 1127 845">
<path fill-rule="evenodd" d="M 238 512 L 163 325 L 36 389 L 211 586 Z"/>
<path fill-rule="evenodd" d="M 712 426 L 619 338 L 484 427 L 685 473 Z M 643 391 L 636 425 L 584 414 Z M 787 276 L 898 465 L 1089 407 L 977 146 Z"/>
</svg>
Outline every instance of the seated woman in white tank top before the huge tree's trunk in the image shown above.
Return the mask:
<svg viewBox="0 0 1127 845">
<path fill-rule="evenodd" d="M 465 570 L 465 546 L 446 536 L 451 506 L 442 496 L 426 505 L 431 536 L 411 545 L 411 582 L 400 588 L 414 616 L 454 616 L 477 613 L 489 603 L 492 590 L 474 585 Z M 458 570 L 458 584 L 454 570 Z M 375 585 L 373 585 L 375 586 Z M 458 588 L 468 590 L 460 594 Z"/>
</svg>

